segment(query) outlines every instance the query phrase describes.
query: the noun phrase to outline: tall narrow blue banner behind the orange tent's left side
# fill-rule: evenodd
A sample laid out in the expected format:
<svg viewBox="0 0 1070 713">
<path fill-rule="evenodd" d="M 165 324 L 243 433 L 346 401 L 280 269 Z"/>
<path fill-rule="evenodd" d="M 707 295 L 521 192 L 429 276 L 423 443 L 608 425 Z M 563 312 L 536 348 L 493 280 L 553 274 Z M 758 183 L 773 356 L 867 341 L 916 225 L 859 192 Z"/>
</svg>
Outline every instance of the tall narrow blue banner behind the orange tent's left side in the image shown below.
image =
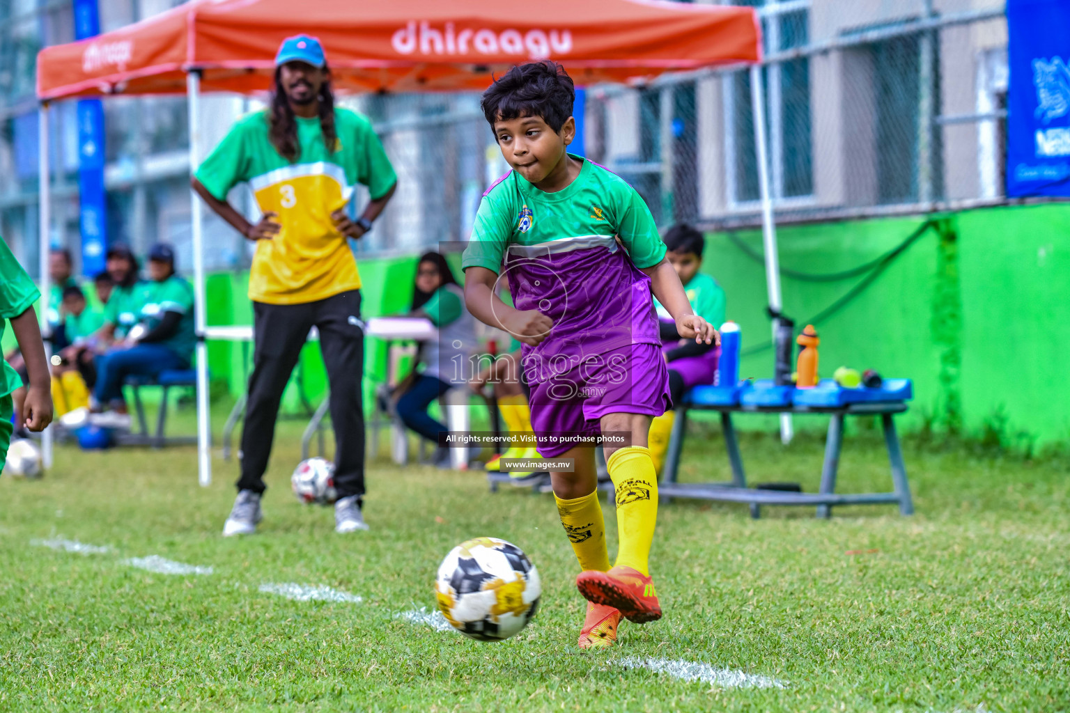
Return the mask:
<svg viewBox="0 0 1070 713">
<path fill-rule="evenodd" d="M 74 1 L 75 37 L 85 40 L 101 32 L 97 0 Z M 81 272 L 104 272 L 107 252 L 104 190 L 104 106 L 100 99 L 78 102 L 78 199 L 81 228 Z"/>
</svg>

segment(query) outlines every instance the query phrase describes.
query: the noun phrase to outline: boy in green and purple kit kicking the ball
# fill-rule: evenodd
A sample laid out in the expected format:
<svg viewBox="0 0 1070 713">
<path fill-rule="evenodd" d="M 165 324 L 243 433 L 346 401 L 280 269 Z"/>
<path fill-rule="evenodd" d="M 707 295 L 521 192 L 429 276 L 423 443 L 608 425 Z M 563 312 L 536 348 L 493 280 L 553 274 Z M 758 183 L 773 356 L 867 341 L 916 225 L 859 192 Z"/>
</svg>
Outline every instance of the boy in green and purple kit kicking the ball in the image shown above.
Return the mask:
<svg viewBox="0 0 1070 713">
<path fill-rule="evenodd" d="M 572 80 L 561 65 L 514 67 L 483 95 L 513 170 L 484 193 L 462 266 L 465 303 L 523 343 L 538 452 L 550 467 L 562 525 L 588 601 L 581 648 L 616 639 L 621 617 L 661 617 L 648 572 L 657 478 L 646 448 L 651 418 L 671 407 L 652 292 L 679 335 L 715 343 L 691 311 L 649 210 L 624 180 L 567 152 L 576 136 Z M 494 293 L 508 273 L 515 307 Z M 616 490 L 620 549 L 610 568 L 593 439 Z"/>
</svg>

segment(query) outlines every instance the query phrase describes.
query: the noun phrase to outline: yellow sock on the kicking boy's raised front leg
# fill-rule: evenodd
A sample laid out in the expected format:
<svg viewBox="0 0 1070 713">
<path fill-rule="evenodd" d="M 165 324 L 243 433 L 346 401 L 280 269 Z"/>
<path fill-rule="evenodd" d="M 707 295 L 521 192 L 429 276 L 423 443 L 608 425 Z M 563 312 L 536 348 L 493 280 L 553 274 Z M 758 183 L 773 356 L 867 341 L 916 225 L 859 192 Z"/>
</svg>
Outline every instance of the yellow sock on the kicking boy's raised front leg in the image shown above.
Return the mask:
<svg viewBox="0 0 1070 713">
<path fill-rule="evenodd" d="M 621 541 L 617 567 L 648 575 L 651 542 L 658 520 L 658 478 L 649 449 L 630 446 L 614 451 L 606 464 L 616 489 L 616 529 Z"/>
</svg>

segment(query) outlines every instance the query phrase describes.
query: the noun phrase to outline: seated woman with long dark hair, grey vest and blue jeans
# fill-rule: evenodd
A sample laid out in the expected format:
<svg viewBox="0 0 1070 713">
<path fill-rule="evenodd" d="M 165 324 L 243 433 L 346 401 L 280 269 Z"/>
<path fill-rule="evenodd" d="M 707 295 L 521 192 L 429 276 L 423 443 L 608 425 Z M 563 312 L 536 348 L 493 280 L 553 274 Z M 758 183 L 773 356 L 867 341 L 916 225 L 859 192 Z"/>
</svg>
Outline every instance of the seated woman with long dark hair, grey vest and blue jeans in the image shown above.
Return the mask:
<svg viewBox="0 0 1070 713">
<path fill-rule="evenodd" d="M 438 445 L 439 433 L 447 429 L 431 418 L 427 407 L 464 377 L 453 374 L 452 370 L 467 362 L 475 344 L 474 323 L 464 309 L 464 293 L 446 259 L 438 252 L 428 252 L 419 259 L 410 316 L 430 320 L 439 328 L 439 338 L 421 344 L 412 373 L 394 390 L 396 412 L 408 428 Z M 448 466 L 448 449 L 440 448 L 434 463 Z"/>
</svg>

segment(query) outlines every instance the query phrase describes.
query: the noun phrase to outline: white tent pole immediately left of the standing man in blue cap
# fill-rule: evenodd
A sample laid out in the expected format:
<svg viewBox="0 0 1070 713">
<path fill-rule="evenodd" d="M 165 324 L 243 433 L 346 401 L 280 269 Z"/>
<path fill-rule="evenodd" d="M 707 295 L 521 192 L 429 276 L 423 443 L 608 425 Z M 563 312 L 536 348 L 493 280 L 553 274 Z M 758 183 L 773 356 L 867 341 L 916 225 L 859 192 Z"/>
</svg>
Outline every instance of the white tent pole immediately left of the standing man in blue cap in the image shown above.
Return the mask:
<svg viewBox="0 0 1070 713">
<path fill-rule="evenodd" d="M 200 161 L 200 71 L 186 75 L 189 110 L 189 175 Z M 212 429 L 209 414 L 208 344 L 204 341 L 204 245 L 201 233 L 201 200 L 189 190 L 189 227 L 194 249 L 194 322 L 197 328 L 197 481 L 204 487 L 212 484 Z"/>
</svg>

